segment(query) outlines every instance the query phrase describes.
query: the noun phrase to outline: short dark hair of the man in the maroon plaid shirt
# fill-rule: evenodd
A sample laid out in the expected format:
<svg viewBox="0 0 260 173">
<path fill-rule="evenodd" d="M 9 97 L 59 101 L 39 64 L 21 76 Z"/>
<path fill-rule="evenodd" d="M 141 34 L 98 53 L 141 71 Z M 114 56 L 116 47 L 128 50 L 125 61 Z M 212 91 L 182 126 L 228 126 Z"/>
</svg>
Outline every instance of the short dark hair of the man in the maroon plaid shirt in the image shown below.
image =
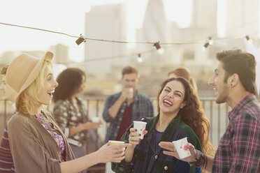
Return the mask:
<svg viewBox="0 0 260 173">
<path fill-rule="evenodd" d="M 224 50 L 216 54 L 217 60 L 222 62 L 225 70 L 224 82 L 234 73 L 238 74 L 239 80 L 246 91 L 257 94 L 255 86 L 256 61 L 254 55 L 242 50 Z"/>
</svg>

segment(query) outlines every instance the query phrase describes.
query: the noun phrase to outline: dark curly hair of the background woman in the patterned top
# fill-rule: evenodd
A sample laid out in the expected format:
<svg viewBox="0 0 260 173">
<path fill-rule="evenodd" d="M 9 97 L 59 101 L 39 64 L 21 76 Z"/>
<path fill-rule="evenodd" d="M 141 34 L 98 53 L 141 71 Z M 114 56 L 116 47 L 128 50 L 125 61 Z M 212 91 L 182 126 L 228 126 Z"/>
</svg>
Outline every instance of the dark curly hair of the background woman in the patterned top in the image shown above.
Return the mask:
<svg viewBox="0 0 260 173">
<path fill-rule="evenodd" d="M 53 101 L 57 102 L 57 100 L 71 98 L 82 84 L 83 76 L 86 78 L 85 73 L 79 68 L 67 68 L 63 70 L 57 77 L 59 85 L 55 89 L 55 93 L 53 93 Z"/>
</svg>

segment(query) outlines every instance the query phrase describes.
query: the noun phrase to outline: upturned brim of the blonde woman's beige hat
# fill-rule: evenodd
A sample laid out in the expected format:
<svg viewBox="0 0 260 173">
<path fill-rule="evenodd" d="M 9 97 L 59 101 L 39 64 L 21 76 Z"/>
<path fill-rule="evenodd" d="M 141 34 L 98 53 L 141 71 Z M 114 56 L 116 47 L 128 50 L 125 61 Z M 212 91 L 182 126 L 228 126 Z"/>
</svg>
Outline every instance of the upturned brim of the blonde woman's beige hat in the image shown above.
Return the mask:
<svg viewBox="0 0 260 173">
<path fill-rule="evenodd" d="M 36 63 L 34 68 L 29 73 L 27 80 L 24 82 L 24 84 L 22 85 L 19 93 L 17 94 L 17 98 L 15 99 L 15 105 L 18 105 L 18 102 L 20 100 L 20 94 L 22 93 L 22 91 L 27 89 L 27 87 L 29 87 L 29 85 L 32 82 L 34 82 L 34 80 L 36 79 L 36 77 L 40 73 L 41 67 L 43 66 L 43 61 L 44 60 L 52 61 L 52 58 L 53 58 L 53 53 L 52 52 L 46 52 L 45 56 L 40 61 L 38 61 L 38 63 Z"/>
</svg>

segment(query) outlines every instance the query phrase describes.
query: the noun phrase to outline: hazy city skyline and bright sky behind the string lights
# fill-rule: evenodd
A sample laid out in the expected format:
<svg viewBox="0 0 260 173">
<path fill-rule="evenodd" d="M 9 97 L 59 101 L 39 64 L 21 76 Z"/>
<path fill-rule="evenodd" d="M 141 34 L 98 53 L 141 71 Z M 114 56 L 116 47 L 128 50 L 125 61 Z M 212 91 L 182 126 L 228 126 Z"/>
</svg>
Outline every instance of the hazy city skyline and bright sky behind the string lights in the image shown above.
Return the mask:
<svg viewBox="0 0 260 173">
<path fill-rule="evenodd" d="M 223 5 L 224 0 L 219 1 L 221 2 L 220 4 Z M 250 37 L 254 38 L 254 40 L 257 40 L 256 38 L 258 38 L 256 31 L 259 29 L 259 23 L 256 19 L 258 16 L 257 14 L 259 13 L 259 1 L 251 0 L 248 3 L 245 3 L 245 0 L 240 0 L 239 3 L 236 3 L 236 5 L 233 4 L 235 0 L 224 2 L 226 8 L 226 20 L 224 21 L 226 21 L 227 34 L 227 38 L 224 38 L 224 40 L 221 40 L 222 38 L 217 36 L 217 29 L 219 27 L 217 22 L 219 20 L 218 9 L 221 8 L 219 1 L 186 0 L 186 3 L 192 4 L 192 8 L 185 6 L 187 11 L 192 11 L 190 14 L 192 18 L 189 21 L 189 24 L 187 22 L 187 16 L 187 19 L 183 20 L 187 22 L 187 28 L 181 28 L 180 23 L 178 23 L 176 19 L 173 22 L 173 18 L 169 20 L 169 15 L 167 15 L 167 11 L 169 11 L 170 7 L 173 9 L 181 8 L 184 6 L 184 4 L 178 4 L 177 6 L 174 6 L 174 3 L 170 3 L 170 0 L 150 0 L 150 6 L 147 5 L 148 0 L 140 1 L 142 3 L 136 3 L 138 6 L 143 6 L 143 15 L 140 15 L 138 20 L 134 22 L 136 26 L 132 26 L 134 28 L 132 31 L 134 31 L 133 36 L 135 39 L 130 41 L 137 40 L 153 42 L 161 40 L 161 43 L 187 43 L 190 40 L 194 40 L 192 42 L 196 43 L 169 46 L 161 45 L 162 47 L 166 48 L 164 54 L 158 55 L 156 51 L 147 54 L 141 54 L 141 57 L 143 57 L 143 63 L 137 62 L 137 53 L 143 53 L 147 50 L 155 50 L 155 47 L 153 47 L 152 44 L 136 44 L 136 46 L 129 47 L 128 44 L 105 43 L 87 40 L 87 43 L 82 43 L 81 45 L 77 46 L 75 44 L 76 39 L 70 38 L 68 36 L 62 36 L 55 33 L 46 33 L 43 31 L 34 31 L 31 29 L 7 27 L 2 25 L 0 25 L 0 56 L 1 53 L 3 53 L 1 50 L 3 50 L 3 48 L 6 46 L 12 47 L 13 51 L 17 51 L 14 47 L 18 46 L 20 47 L 20 50 L 24 52 L 32 52 L 34 51 L 35 47 L 40 45 L 41 42 L 45 43 L 46 40 L 50 40 L 47 45 L 45 44 L 44 48 L 38 47 L 37 50 L 46 51 L 50 50 L 50 46 L 62 44 L 64 47 L 68 47 L 68 49 L 58 49 L 57 51 L 61 52 L 64 50 L 65 52 L 69 52 L 69 56 L 65 55 L 66 61 L 64 61 L 64 63 L 68 62 L 68 58 L 72 58 L 73 61 L 75 61 L 77 57 L 81 57 L 79 60 L 85 60 L 85 63 L 71 63 L 69 67 L 80 67 L 83 70 L 86 70 L 87 74 L 94 75 L 96 73 L 100 73 L 100 75 L 105 74 L 104 76 L 106 76 L 108 73 L 113 73 L 112 68 L 114 67 L 120 69 L 122 66 L 127 65 L 127 63 L 136 63 L 135 65 L 140 66 L 142 74 L 146 75 L 150 75 L 150 73 L 154 72 L 166 73 L 164 68 L 170 69 L 174 66 L 187 66 L 187 68 L 192 70 L 196 78 L 200 78 L 201 72 L 205 70 L 204 67 L 207 66 L 210 68 L 210 66 L 212 66 L 212 60 L 214 60 L 215 52 L 221 51 L 223 49 L 231 49 L 233 47 L 240 47 L 241 49 L 245 50 L 245 45 L 243 42 L 243 36 L 245 36 L 245 34 L 250 34 Z M 6 16 L 11 15 L 11 19 L 13 19 L 13 21 L 21 22 L 19 24 L 22 24 L 22 17 L 24 17 L 28 22 L 24 25 L 29 27 L 62 31 L 73 36 L 78 36 L 78 31 L 82 30 L 81 33 L 83 33 L 83 35 L 87 34 L 87 37 L 89 38 L 123 41 L 129 40 L 129 24 L 127 19 L 129 16 L 131 16 L 128 14 L 128 12 L 131 11 L 129 8 L 134 8 L 133 5 L 135 3 L 130 3 L 132 1 L 106 1 L 106 3 L 104 3 L 104 1 L 95 1 L 95 3 L 94 1 L 79 1 L 78 4 L 71 3 L 69 1 L 55 1 L 53 3 L 46 1 L 46 3 L 39 3 L 37 6 L 34 2 L 31 5 L 33 7 L 36 6 L 37 8 L 31 8 L 30 6 L 27 8 L 27 10 L 26 8 L 23 8 L 26 3 L 19 1 L 17 2 L 18 3 L 15 3 L 14 5 L 11 4 L 12 2 L 9 2 L 6 10 L 0 10 L 0 22 L 7 22 Z M 25 2 L 28 3 L 29 0 Z M 133 0 L 133 2 L 137 2 L 137 0 Z M 176 2 L 177 1 L 175 1 L 175 3 Z M 41 6 L 42 4 L 45 4 L 45 6 Z M 118 9 L 114 9 L 113 6 L 118 6 Z M 13 7 L 12 10 L 10 10 L 10 7 Z M 1 8 L 3 9 L 4 7 L 0 6 L 0 9 Z M 39 10 L 39 8 L 41 8 L 41 10 Z M 135 15 L 139 14 L 138 9 L 139 8 L 136 8 Z M 117 13 L 117 10 L 120 11 L 120 13 Z M 45 13 L 43 13 L 43 11 L 45 11 Z M 69 13 L 64 15 L 66 11 L 69 11 Z M 234 15 L 235 13 L 233 12 L 236 12 L 236 14 L 239 15 Z M 2 15 L 3 13 L 5 15 Z M 16 13 L 20 15 L 15 15 Z M 30 17 L 34 15 L 34 13 L 35 16 Z M 27 15 L 24 16 L 24 14 Z M 183 14 L 180 13 L 179 15 Z M 81 18 L 79 16 L 81 16 Z M 87 16 L 90 16 L 90 18 Z M 77 18 L 77 20 L 74 20 L 74 18 Z M 135 19 L 135 17 L 133 17 L 133 19 Z M 44 24 L 46 21 L 48 24 L 51 23 L 53 26 L 46 24 L 46 27 L 41 27 L 41 24 Z M 74 25 L 71 23 L 71 21 L 74 22 Z M 29 22 L 32 22 L 35 25 L 31 26 L 29 25 Z M 78 23 L 80 23 L 81 27 L 78 27 Z M 140 26 L 137 27 L 138 25 Z M 57 26 L 58 29 L 56 30 L 55 28 Z M 184 27 L 184 25 L 182 25 L 182 27 Z M 7 30 L 4 31 L 3 28 Z M 71 32 L 68 32 L 69 29 L 71 29 Z M 17 31 L 24 31 L 24 33 Z M 120 31 L 120 35 L 117 35 L 118 31 Z M 34 36 L 34 38 L 31 38 L 31 36 Z M 210 45 L 205 52 L 202 52 L 201 48 L 205 42 L 208 41 L 209 36 L 213 36 L 213 40 L 217 40 L 214 40 L 214 44 Z M 6 38 L 6 40 L 3 38 Z M 55 42 L 52 43 L 53 40 L 55 40 Z M 49 43 L 51 44 L 49 45 Z M 35 47 L 28 50 L 23 48 L 27 45 Z M 83 55 L 84 51 L 85 55 Z M 86 53 L 86 51 L 89 52 Z M 125 56 L 124 59 L 111 58 L 107 59 L 106 61 L 87 61 L 92 59 L 97 60 L 103 57 L 117 57 L 117 55 L 122 54 L 133 54 L 133 56 L 131 59 L 127 59 L 127 56 Z M 59 55 L 57 54 L 57 57 L 62 56 L 64 56 L 64 53 L 59 53 Z M 6 62 L 8 63 L 8 61 Z M 105 73 L 104 70 L 106 70 Z"/>
</svg>

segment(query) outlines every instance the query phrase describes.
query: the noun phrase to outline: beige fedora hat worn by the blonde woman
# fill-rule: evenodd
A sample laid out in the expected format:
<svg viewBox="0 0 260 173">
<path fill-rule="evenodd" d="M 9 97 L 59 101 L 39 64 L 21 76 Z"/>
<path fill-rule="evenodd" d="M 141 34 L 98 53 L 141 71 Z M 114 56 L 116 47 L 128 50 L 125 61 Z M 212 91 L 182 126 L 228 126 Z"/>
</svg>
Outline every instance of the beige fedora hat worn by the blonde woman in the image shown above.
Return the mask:
<svg viewBox="0 0 260 173">
<path fill-rule="evenodd" d="M 43 61 L 51 61 L 52 57 L 52 52 L 46 52 L 42 59 L 29 54 L 21 54 L 10 62 L 6 72 L 6 83 L 17 93 L 15 105 L 18 103 L 20 93 L 27 89 L 40 73 Z"/>
</svg>

